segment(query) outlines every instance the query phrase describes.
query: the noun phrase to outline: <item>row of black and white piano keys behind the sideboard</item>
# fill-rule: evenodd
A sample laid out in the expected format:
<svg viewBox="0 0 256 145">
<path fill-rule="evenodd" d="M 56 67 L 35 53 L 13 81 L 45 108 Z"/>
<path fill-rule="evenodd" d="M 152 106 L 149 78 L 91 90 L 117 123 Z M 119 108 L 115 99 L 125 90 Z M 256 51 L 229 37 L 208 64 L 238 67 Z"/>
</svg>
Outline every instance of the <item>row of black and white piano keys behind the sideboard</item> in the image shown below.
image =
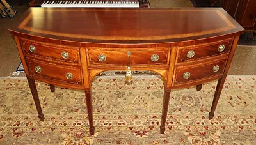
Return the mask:
<svg viewBox="0 0 256 145">
<path fill-rule="evenodd" d="M 138 1 L 44 1 L 47 8 L 139 8 Z"/>
</svg>

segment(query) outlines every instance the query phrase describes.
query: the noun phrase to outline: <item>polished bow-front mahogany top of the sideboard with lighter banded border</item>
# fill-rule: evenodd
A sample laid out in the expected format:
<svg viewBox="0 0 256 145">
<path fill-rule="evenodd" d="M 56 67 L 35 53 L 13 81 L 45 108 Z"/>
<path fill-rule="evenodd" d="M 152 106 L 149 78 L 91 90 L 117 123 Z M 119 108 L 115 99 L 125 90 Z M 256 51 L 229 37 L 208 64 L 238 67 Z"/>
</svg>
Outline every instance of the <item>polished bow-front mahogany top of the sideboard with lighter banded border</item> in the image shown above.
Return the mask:
<svg viewBox="0 0 256 145">
<path fill-rule="evenodd" d="M 165 43 L 243 31 L 222 8 L 30 8 L 12 33 L 89 43 Z"/>
</svg>

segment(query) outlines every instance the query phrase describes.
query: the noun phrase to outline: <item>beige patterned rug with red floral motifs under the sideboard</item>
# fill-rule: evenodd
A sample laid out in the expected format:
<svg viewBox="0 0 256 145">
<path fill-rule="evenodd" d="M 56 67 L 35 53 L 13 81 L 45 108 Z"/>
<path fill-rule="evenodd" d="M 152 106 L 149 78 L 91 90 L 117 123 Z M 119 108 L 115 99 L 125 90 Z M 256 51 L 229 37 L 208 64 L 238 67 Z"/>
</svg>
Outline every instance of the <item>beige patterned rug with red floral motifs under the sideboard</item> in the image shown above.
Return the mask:
<svg viewBox="0 0 256 145">
<path fill-rule="evenodd" d="M 38 82 L 45 121 L 26 79 L 0 78 L 0 144 L 256 144 L 256 75 L 225 82 L 216 115 L 207 119 L 216 82 L 171 94 L 159 134 L 163 81 L 156 75 L 100 76 L 92 83 L 95 135 L 88 134 L 84 92 Z"/>
</svg>

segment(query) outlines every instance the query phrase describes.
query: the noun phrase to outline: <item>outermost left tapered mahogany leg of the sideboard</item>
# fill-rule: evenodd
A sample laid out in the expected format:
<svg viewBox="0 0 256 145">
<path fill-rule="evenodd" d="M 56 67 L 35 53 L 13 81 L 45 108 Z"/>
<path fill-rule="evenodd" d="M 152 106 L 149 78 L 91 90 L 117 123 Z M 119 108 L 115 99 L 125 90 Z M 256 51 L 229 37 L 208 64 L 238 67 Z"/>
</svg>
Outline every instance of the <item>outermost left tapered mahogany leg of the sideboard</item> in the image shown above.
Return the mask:
<svg viewBox="0 0 256 145">
<path fill-rule="evenodd" d="M 40 121 L 44 121 L 44 114 L 42 112 L 42 108 L 40 105 L 35 80 L 29 79 L 29 78 L 27 78 L 27 79 L 28 79 L 29 88 L 31 90 L 31 93 L 32 93 L 32 96 L 33 96 L 33 99 L 34 99 L 34 102 L 36 105 L 36 110 L 38 112 L 38 118 L 40 119 Z"/>
</svg>

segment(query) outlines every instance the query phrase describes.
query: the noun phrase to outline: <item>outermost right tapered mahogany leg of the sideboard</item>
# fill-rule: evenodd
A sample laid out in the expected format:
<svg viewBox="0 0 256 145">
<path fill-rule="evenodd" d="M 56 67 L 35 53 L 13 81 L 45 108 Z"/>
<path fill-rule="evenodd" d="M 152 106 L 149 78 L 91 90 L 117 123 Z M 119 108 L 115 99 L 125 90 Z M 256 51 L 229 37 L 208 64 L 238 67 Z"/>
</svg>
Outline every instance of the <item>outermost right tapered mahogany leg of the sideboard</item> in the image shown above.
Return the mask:
<svg viewBox="0 0 256 145">
<path fill-rule="evenodd" d="M 212 119 L 214 117 L 214 112 L 215 112 L 217 103 L 219 101 L 220 93 L 222 91 L 225 79 L 226 79 L 226 77 L 222 77 L 218 80 L 218 84 L 217 84 L 216 91 L 215 91 L 214 98 L 213 98 L 213 102 L 212 102 L 211 112 L 209 112 L 209 119 Z"/>
</svg>

